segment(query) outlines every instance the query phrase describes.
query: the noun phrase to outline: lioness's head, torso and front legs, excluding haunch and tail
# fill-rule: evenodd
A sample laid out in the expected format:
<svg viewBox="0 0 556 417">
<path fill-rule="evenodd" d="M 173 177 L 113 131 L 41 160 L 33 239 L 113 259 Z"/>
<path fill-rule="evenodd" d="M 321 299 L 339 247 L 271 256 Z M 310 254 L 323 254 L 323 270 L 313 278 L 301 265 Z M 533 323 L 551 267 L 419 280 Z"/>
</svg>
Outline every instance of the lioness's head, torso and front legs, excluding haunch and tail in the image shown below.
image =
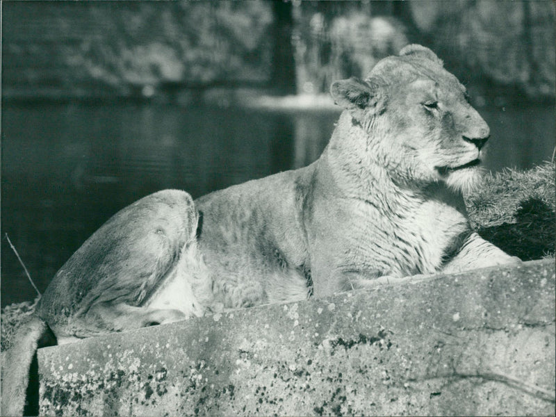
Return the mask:
<svg viewBox="0 0 556 417">
<path fill-rule="evenodd" d="M 430 49 L 409 45 L 331 91 L 345 111 L 316 163 L 195 201 L 215 300 L 302 300 L 516 261 L 472 233 L 461 191 L 480 178 L 489 126 Z"/>
</svg>

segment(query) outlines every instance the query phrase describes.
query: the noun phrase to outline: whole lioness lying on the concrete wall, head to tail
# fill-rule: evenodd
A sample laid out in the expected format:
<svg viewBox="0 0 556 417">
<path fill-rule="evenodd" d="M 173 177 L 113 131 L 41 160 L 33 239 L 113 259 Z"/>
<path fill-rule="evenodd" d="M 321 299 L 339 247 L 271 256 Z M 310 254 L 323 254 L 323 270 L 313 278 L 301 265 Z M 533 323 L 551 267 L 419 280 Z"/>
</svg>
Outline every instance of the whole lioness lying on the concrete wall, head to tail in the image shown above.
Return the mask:
<svg viewBox="0 0 556 417">
<path fill-rule="evenodd" d="M 155 193 L 95 232 L 8 351 L 19 379 L 4 381 L 3 412 L 22 413 L 22 369 L 47 326 L 60 342 L 516 261 L 466 218 L 489 126 L 430 49 L 409 45 L 331 92 L 345 110 L 315 163 L 195 202 Z"/>
</svg>

